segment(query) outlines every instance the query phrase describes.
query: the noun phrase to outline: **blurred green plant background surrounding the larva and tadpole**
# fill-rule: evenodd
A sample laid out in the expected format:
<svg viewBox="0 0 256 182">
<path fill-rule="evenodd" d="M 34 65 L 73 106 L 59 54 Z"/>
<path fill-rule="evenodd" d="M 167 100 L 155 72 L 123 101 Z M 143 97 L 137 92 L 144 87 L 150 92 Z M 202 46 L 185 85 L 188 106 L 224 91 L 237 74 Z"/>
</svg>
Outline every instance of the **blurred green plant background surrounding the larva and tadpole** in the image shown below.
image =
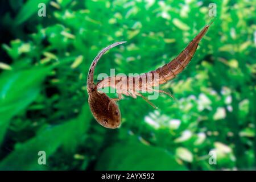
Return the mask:
<svg viewBox="0 0 256 182">
<path fill-rule="evenodd" d="M 42 2 L 46 17 L 38 16 Z M 155 110 L 125 97 L 122 126 L 98 125 L 86 93 L 98 51 L 127 41 L 102 57 L 96 76 L 156 69 L 213 20 L 210 3 L 217 16 L 191 64 L 162 86 L 177 101 L 161 94 Z M 1 1 L 0 169 L 255 169 L 255 7 L 242 0 Z M 46 165 L 38 164 L 39 151 Z"/>
</svg>

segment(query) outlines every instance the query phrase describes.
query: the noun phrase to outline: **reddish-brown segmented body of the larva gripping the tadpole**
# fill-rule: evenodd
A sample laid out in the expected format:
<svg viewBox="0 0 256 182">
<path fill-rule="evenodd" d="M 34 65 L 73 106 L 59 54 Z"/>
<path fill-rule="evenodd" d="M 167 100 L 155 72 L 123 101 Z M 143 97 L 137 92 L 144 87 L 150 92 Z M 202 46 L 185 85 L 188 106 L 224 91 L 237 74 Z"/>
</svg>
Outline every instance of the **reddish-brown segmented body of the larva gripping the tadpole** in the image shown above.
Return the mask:
<svg viewBox="0 0 256 182">
<path fill-rule="evenodd" d="M 188 46 L 181 51 L 181 53 L 170 63 L 163 65 L 154 71 L 143 73 L 142 75 L 135 77 L 108 77 L 104 78 L 97 84 L 97 89 L 111 86 L 119 91 L 119 93 L 127 93 L 127 90 L 147 90 L 152 86 L 158 86 L 164 84 L 167 81 L 175 78 L 177 74 L 183 71 L 185 67 L 191 61 L 193 55 L 196 52 L 197 46 L 204 34 L 207 32 L 210 24 L 205 26 L 203 30 L 188 44 Z M 120 44 L 120 43 L 117 43 Z M 101 55 L 100 55 L 101 56 Z M 97 60 L 97 59 L 96 59 Z M 97 61 L 96 61 L 97 63 Z M 94 64 L 93 64 L 94 66 Z M 94 70 L 94 69 L 93 69 Z M 90 73 L 90 72 L 89 72 Z M 111 81 L 113 80 L 113 81 Z M 91 82 L 93 82 L 91 77 Z M 119 86 L 125 85 L 125 88 L 119 88 Z"/>
</svg>

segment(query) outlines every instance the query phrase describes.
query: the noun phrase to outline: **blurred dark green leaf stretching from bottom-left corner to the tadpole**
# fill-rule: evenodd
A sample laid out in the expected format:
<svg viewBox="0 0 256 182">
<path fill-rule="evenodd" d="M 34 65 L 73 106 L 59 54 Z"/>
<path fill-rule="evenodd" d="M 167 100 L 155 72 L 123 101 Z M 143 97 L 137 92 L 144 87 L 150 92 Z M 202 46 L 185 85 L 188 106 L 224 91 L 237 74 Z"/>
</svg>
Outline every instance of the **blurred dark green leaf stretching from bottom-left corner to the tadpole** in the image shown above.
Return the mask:
<svg viewBox="0 0 256 182">
<path fill-rule="evenodd" d="M 85 119 L 88 119 L 88 111 L 89 108 L 86 104 L 76 119 L 72 119 L 59 126 L 44 129 L 27 142 L 16 144 L 15 150 L 0 163 L 0 170 L 46 169 L 47 165 L 38 164 L 38 158 L 40 157 L 38 152 L 46 152 L 47 163 L 49 156 L 62 144 L 74 147 L 74 140 L 77 142 L 89 127 L 89 123 L 84 122 Z"/>
</svg>

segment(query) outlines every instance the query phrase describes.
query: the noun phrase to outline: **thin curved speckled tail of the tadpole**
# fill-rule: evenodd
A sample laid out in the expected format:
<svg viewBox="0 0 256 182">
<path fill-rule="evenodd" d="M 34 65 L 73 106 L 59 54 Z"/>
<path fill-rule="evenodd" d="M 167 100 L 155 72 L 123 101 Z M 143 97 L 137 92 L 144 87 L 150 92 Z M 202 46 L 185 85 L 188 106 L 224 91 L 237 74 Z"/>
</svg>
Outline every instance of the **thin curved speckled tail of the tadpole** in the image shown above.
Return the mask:
<svg viewBox="0 0 256 182">
<path fill-rule="evenodd" d="M 89 91 L 89 90 L 93 90 L 93 89 L 95 88 L 95 84 L 94 84 L 94 82 L 93 82 L 93 76 L 94 76 L 94 69 L 95 69 L 95 67 L 96 67 L 96 65 L 97 65 L 97 63 L 98 63 L 98 60 L 101 59 L 101 56 L 104 55 L 104 53 L 105 53 L 106 51 L 108 51 L 109 49 L 111 49 L 111 48 L 113 48 L 113 47 L 115 47 L 115 46 L 118 46 L 118 45 L 120 45 L 120 44 L 123 44 L 123 43 L 126 43 L 126 42 L 123 41 L 123 42 L 116 42 L 116 43 L 114 43 L 114 44 L 111 44 L 110 46 L 108 46 L 108 47 L 102 49 L 102 50 L 98 53 L 98 55 L 94 58 L 92 64 L 90 65 L 90 69 L 89 69 L 88 77 L 87 77 L 87 90 L 88 90 L 88 91 Z"/>
</svg>

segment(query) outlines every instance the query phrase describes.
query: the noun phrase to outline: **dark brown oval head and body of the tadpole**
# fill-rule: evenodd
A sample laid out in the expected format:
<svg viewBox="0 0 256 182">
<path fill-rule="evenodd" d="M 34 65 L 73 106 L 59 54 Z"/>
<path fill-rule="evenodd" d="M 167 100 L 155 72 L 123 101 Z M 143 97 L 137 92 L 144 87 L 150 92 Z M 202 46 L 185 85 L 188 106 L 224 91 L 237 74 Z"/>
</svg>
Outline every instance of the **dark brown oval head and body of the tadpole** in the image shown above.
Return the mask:
<svg viewBox="0 0 256 182">
<path fill-rule="evenodd" d="M 121 113 L 114 101 L 110 102 L 110 98 L 105 93 L 98 93 L 97 90 L 89 94 L 90 110 L 96 121 L 100 125 L 116 129 L 121 124 Z"/>
</svg>

